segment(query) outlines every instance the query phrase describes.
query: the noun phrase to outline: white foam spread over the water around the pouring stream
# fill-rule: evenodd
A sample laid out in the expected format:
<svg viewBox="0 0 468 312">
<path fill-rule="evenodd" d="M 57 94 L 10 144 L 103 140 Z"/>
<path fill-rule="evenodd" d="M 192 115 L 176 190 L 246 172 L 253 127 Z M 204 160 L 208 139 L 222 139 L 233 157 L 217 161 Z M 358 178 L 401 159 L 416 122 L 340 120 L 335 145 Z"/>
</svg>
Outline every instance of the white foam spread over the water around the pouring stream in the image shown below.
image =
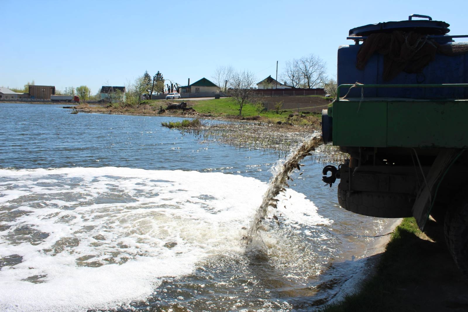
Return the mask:
<svg viewBox="0 0 468 312">
<path fill-rule="evenodd" d="M 86 311 L 145 300 L 165 276 L 242 254 L 267 185 L 219 172 L 130 168 L 0 170 L 0 310 Z M 291 196 L 291 198 L 290 198 Z M 279 195 L 287 226 L 330 221 Z M 286 206 L 286 208 L 285 208 Z"/>
</svg>

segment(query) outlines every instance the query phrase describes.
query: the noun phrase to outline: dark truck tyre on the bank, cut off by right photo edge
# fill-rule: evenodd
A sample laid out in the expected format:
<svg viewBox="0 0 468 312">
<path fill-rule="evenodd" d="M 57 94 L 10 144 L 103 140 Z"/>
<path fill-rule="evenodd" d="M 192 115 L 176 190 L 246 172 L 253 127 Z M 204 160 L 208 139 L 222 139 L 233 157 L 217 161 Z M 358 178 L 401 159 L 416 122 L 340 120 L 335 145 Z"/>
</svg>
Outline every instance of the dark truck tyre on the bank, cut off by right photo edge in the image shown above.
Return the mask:
<svg viewBox="0 0 468 312">
<path fill-rule="evenodd" d="M 468 278 L 468 202 L 463 194 L 447 211 L 444 233 L 448 250 L 461 273 Z"/>
</svg>

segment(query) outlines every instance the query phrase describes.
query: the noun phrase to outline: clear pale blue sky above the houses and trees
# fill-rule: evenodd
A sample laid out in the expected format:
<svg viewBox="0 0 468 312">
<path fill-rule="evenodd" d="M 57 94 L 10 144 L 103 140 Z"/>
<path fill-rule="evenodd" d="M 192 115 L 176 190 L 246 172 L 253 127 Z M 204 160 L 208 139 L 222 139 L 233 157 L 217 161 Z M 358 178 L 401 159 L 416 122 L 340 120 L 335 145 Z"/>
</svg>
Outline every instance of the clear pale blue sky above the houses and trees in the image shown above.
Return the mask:
<svg viewBox="0 0 468 312">
<path fill-rule="evenodd" d="M 185 85 L 231 65 L 278 76 L 309 53 L 336 73 L 351 28 L 430 15 L 468 34 L 467 0 L 15 1 L 0 0 L 0 86 L 127 85 L 145 70 Z M 463 39 L 461 39 L 463 41 Z M 468 41 L 468 39 L 465 39 Z"/>
</svg>

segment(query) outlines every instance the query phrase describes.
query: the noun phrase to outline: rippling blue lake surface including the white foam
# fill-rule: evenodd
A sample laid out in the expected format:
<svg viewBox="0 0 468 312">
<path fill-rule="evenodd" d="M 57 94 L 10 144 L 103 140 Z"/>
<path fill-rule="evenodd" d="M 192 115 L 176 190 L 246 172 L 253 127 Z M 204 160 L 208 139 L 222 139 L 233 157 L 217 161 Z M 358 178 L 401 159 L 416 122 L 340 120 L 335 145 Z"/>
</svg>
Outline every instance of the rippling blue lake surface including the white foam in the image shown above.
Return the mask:
<svg viewBox="0 0 468 312">
<path fill-rule="evenodd" d="M 1 311 L 313 311 L 353 290 L 392 221 L 340 208 L 308 157 L 252 257 L 283 157 L 161 126 L 179 119 L 0 104 Z"/>
</svg>

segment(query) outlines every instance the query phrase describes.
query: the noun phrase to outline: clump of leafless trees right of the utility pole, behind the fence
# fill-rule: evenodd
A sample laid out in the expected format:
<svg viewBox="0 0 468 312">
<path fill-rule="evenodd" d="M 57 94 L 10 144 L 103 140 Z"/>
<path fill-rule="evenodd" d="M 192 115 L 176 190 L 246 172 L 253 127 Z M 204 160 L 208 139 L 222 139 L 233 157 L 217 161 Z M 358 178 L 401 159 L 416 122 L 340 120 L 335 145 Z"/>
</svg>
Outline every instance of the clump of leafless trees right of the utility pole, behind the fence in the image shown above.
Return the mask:
<svg viewBox="0 0 468 312">
<path fill-rule="evenodd" d="M 327 65 L 313 53 L 286 62 L 283 78 L 294 88 L 316 88 L 326 80 Z"/>
</svg>

